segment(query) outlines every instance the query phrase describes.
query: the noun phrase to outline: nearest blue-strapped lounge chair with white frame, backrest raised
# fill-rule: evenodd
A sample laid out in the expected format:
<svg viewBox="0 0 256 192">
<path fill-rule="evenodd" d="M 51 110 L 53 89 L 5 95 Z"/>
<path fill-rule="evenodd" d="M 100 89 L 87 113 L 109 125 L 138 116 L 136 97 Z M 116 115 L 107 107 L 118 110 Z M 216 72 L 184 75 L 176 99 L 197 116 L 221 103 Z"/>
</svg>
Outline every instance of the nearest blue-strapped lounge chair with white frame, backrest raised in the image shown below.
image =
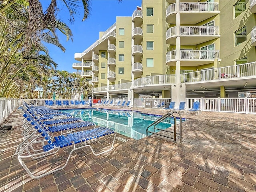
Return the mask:
<svg viewBox="0 0 256 192">
<path fill-rule="evenodd" d="M 89 130 L 72 132 L 65 135 L 62 134 L 53 138 L 52 136 L 50 136 L 49 133 L 56 132 L 58 130 L 49 131 L 49 127 L 45 127 L 44 124 L 36 119 L 36 117 L 32 116 L 30 111 L 28 111 L 26 108 L 20 107 L 19 110 L 24 116 L 24 120 L 29 122 L 31 125 L 29 127 L 30 131 L 28 131 L 28 134 L 26 134 L 27 137 L 24 137 L 24 141 L 22 141 L 22 143 L 18 146 L 16 154 L 18 155 L 18 161 L 20 162 L 22 167 L 33 179 L 39 179 L 46 175 L 64 169 L 68 165 L 68 161 L 72 153 L 76 150 L 89 147 L 92 153 L 95 156 L 98 156 L 100 154 L 109 152 L 114 147 L 116 133 L 109 128 L 92 128 Z M 114 135 L 110 148 L 99 153 L 94 152 L 92 146 L 90 145 L 90 141 L 94 141 L 108 135 Z M 81 146 L 76 146 L 78 144 L 81 144 Z M 32 145 L 37 147 L 36 150 L 32 147 Z M 26 165 L 27 162 L 31 163 L 32 160 L 36 159 L 42 159 L 43 161 L 46 156 L 56 155 L 58 154 L 60 148 L 65 150 L 66 148 L 69 148 L 69 146 L 74 146 L 74 148 L 71 150 L 68 149 L 66 151 L 69 154 L 67 158 L 66 156 L 63 156 L 63 158 L 66 158 L 66 162 L 64 163 L 64 165 L 57 165 L 56 168 L 52 168 L 52 166 L 56 166 L 56 164 L 53 164 L 52 166 L 44 165 L 42 166 L 44 170 L 42 170 L 42 168 L 38 168 L 40 167 L 40 160 L 35 162 L 37 163 L 36 170 L 32 171 L 30 170 L 30 168 L 33 168 L 33 166 L 30 166 L 30 168 L 28 168 L 28 166 Z M 63 154 L 63 152 L 61 152 L 60 154 Z"/>
</svg>

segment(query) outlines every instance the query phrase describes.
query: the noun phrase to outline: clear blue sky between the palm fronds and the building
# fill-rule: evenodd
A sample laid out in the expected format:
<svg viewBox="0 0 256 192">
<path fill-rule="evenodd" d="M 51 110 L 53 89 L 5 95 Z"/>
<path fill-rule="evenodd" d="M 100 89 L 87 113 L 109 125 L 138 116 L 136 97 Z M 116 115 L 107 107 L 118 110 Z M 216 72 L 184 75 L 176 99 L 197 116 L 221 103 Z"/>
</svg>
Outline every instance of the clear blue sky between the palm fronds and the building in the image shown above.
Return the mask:
<svg viewBox="0 0 256 192">
<path fill-rule="evenodd" d="M 60 1 L 57 1 L 60 3 Z M 59 34 L 60 43 L 66 48 L 62 52 L 60 48 L 45 44 L 51 58 L 58 64 L 57 70 L 66 70 L 70 73 L 76 71 L 72 64 L 78 62 L 74 59 L 74 53 L 81 53 L 99 38 L 100 31 L 106 31 L 116 22 L 116 16 L 132 16 L 136 6 L 141 6 L 141 0 L 92 0 L 90 17 L 82 22 L 83 12 L 76 14 L 75 21 L 69 23 L 69 13 L 61 9 L 58 18 L 61 18 L 72 30 L 73 42 L 66 41 L 66 36 Z M 43 0 L 45 7 L 50 0 Z M 82 2 L 80 2 L 82 6 Z"/>
</svg>

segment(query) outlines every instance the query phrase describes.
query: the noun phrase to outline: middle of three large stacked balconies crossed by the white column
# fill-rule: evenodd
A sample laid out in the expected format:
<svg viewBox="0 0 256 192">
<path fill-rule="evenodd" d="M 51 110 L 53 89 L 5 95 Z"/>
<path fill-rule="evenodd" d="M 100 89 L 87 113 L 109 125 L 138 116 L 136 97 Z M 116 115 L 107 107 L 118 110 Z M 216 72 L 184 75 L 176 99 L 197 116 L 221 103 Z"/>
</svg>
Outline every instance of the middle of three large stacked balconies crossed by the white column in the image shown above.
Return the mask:
<svg viewBox="0 0 256 192">
<path fill-rule="evenodd" d="M 166 44 L 176 44 L 176 27 L 166 31 Z M 218 26 L 180 26 L 180 44 L 196 45 L 220 37 Z"/>
</svg>

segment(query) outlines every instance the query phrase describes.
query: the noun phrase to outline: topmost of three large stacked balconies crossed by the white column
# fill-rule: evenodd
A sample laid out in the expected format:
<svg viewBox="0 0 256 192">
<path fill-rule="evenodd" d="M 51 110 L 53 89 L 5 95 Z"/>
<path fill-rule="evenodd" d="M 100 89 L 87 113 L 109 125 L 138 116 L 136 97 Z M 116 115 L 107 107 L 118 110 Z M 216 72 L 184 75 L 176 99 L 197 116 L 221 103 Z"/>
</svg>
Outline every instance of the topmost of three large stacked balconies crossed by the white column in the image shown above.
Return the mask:
<svg viewBox="0 0 256 192">
<path fill-rule="evenodd" d="M 166 9 L 166 22 L 175 23 L 178 11 L 180 12 L 180 24 L 196 24 L 220 13 L 218 3 L 180 3 L 179 10 L 176 10 L 176 3 L 174 3 Z"/>
</svg>

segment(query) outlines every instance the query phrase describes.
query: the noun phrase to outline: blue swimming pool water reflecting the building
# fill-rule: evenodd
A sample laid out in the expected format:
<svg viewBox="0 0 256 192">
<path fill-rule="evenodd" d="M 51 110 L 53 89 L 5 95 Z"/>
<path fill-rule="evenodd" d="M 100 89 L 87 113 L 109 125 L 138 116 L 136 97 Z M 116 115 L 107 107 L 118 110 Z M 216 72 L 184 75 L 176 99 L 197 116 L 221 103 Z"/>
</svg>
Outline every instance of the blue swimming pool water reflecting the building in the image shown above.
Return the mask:
<svg viewBox="0 0 256 192">
<path fill-rule="evenodd" d="M 101 110 L 101 109 L 76 109 L 62 110 L 62 112 L 70 112 L 74 117 L 80 117 L 84 121 L 92 121 L 101 127 L 112 128 L 116 132 L 139 140 L 146 137 L 146 128 L 160 116 L 141 114 L 140 112 L 128 112 L 120 110 Z M 182 122 L 184 120 L 182 119 Z M 177 124 L 180 122 L 176 120 Z M 166 129 L 174 125 L 173 118 L 167 118 L 156 127 Z M 153 131 L 152 126 L 149 130 Z M 179 126 L 177 126 L 177 131 Z M 150 135 L 150 134 L 148 134 Z"/>
</svg>

